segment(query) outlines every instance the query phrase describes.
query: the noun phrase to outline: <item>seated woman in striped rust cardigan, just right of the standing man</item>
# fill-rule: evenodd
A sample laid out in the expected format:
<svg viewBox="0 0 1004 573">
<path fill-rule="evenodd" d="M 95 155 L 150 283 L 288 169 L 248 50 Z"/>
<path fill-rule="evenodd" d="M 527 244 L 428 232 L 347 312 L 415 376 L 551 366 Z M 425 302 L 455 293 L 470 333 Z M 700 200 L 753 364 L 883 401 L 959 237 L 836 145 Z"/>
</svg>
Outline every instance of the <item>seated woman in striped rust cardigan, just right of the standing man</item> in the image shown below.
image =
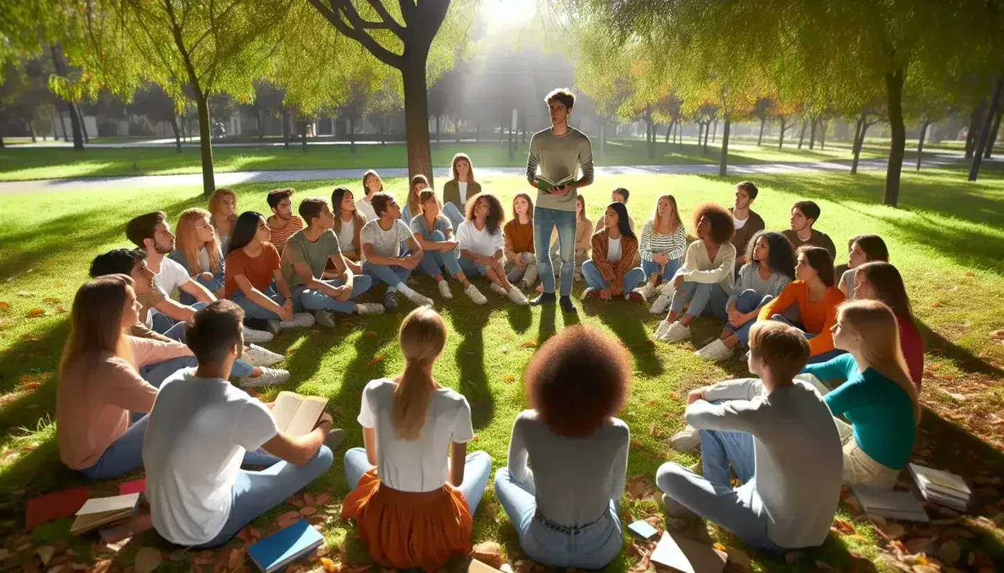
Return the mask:
<svg viewBox="0 0 1004 573">
<path fill-rule="evenodd" d="M 635 292 L 645 280 L 645 271 L 639 266 L 638 237 L 628 224 L 628 208 L 622 203 L 607 205 L 603 225 L 592 236 L 592 259 L 582 263 L 582 276 L 589 285 L 582 291 L 582 300 L 623 296 L 644 302 L 645 296 Z"/>
</svg>

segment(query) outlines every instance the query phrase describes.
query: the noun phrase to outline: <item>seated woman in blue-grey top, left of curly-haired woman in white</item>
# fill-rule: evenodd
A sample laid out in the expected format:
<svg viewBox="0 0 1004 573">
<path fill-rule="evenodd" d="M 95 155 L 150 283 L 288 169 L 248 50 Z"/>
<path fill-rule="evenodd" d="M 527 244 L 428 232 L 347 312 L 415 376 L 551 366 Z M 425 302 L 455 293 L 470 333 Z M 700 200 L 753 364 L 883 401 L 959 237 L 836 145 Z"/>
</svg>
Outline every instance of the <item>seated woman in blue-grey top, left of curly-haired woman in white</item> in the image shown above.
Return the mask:
<svg viewBox="0 0 1004 573">
<path fill-rule="evenodd" d="M 450 284 L 443 276 L 443 269 L 446 268 L 450 275 L 460 281 L 461 286 L 464 287 L 464 294 L 474 304 L 485 304 L 488 299 L 481 294 L 478 287 L 467 280 L 467 275 L 460 268 L 460 262 L 457 260 L 460 243 L 453 237 L 453 224 L 440 211 L 436 192 L 431 189 L 422 190 L 422 193 L 419 194 L 419 201 L 422 202 L 422 213 L 416 215 L 409 226 L 412 234 L 415 235 L 415 241 L 425 253 L 419 266 L 427 275 L 436 279 L 443 298 L 447 300 L 453 298 Z"/>
</svg>

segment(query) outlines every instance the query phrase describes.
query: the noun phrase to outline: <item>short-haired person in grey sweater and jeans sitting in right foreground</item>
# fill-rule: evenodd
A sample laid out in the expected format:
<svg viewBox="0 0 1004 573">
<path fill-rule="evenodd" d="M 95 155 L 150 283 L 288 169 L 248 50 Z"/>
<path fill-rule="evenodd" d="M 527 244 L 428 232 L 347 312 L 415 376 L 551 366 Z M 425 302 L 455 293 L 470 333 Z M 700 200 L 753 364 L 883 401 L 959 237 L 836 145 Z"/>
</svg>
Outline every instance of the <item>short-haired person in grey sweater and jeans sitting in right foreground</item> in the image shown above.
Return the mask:
<svg viewBox="0 0 1004 573">
<path fill-rule="evenodd" d="M 811 384 L 793 379 L 808 342 L 787 324 L 750 332 L 750 372 L 687 396 L 701 437 L 703 475 L 674 462 L 656 484 L 667 513 L 697 514 L 747 544 L 772 551 L 820 545 L 840 501 L 843 455 L 836 422 Z M 742 485 L 733 488 L 729 467 Z"/>
</svg>

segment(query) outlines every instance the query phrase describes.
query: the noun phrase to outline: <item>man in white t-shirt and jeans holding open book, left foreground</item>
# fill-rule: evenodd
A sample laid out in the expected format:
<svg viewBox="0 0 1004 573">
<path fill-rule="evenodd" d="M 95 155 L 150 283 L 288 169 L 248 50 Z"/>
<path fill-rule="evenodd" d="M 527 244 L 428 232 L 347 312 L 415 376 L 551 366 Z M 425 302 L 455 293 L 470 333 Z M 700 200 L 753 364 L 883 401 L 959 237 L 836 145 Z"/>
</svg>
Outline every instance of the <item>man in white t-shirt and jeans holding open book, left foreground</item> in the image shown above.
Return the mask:
<svg viewBox="0 0 1004 573">
<path fill-rule="evenodd" d="M 326 412 L 294 438 L 271 404 L 227 381 L 244 311 L 231 300 L 196 312 L 185 340 L 199 365 L 164 381 L 143 440 L 154 529 L 184 547 L 218 547 L 323 474 L 343 433 Z M 242 465 L 268 466 L 260 472 Z"/>
</svg>

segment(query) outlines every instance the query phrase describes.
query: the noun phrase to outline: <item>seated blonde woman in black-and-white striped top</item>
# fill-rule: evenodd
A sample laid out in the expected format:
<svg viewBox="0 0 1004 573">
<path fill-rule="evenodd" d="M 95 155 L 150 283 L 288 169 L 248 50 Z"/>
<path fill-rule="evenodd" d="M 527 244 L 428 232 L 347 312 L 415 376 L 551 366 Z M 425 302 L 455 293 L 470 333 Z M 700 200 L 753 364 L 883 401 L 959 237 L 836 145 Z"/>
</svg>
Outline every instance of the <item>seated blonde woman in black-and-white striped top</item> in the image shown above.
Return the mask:
<svg viewBox="0 0 1004 573">
<path fill-rule="evenodd" d="M 656 201 L 652 219 L 642 227 L 642 241 L 638 249 L 647 277 L 645 285 L 640 288 L 648 299 L 656 296 L 659 287 L 677 274 L 687 249 L 687 229 L 680 219 L 675 197 L 664 195 Z"/>
</svg>

